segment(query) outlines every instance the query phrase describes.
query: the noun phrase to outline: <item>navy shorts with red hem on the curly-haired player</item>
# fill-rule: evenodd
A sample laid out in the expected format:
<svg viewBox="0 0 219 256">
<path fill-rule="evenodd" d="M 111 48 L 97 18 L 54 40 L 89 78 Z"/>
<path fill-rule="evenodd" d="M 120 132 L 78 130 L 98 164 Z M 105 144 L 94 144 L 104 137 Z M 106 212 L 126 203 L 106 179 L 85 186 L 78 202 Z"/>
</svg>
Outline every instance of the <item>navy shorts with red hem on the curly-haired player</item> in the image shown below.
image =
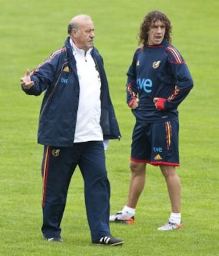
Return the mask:
<svg viewBox="0 0 219 256">
<path fill-rule="evenodd" d="M 131 161 L 179 166 L 179 122 L 136 123 Z"/>
</svg>

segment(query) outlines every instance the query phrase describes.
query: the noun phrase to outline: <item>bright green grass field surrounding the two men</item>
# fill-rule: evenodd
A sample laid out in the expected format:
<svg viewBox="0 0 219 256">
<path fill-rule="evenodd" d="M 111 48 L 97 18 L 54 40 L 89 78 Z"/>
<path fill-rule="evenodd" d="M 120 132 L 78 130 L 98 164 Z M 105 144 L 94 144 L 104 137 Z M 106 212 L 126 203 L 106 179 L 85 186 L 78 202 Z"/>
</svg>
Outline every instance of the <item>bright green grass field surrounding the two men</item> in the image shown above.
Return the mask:
<svg viewBox="0 0 219 256">
<path fill-rule="evenodd" d="M 219 255 L 219 117 L 217 0 L 75 0 L 1 3 L 0 68 L 0 255 Z M 143 16 L 159 9 L 173 25 L 173 45 L 181 51 L 195 87 L 179 107 L 182 221 L 176 232 L 158 232 L 167 221 L 170 203 L 159 169 L 148 166 L 147 185 L 136 209 L 136 225 L 111 224 L 125 240 L 120 247 L 91 244 L 77 170 L 69 188 L 61 227 L 62 244 L 41 235 L 41 158 L 36 144 L 43 95 L 27 96 L 19 86 L 26 68 L 32 70 L 63 45 L 72 16 L 87 13 L 96 26 L 95 45 L 105 60 L 122 139 L 106 151 L 111 181 L 111 213 L 127 198 L 131 132 L 134 117 L 125 103 L 126 71 Z"/>
</svg>

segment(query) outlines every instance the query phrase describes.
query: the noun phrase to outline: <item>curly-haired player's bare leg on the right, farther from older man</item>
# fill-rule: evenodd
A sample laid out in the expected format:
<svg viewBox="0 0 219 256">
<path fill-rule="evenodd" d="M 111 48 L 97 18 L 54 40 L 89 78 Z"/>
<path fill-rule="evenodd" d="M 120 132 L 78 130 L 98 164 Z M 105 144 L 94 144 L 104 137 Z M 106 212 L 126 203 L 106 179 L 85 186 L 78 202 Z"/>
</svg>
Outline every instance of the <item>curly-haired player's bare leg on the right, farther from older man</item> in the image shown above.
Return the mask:
<svg viewBox="0 0 219 256">
<path fill-rule="evenodd" d="M 181 183 L 176 173 L 175 166 L 161 165 L 161 172 L 164 175 L 169 192 L 172 213 L 180 213 L 181 211 Z"/>
</svg>

